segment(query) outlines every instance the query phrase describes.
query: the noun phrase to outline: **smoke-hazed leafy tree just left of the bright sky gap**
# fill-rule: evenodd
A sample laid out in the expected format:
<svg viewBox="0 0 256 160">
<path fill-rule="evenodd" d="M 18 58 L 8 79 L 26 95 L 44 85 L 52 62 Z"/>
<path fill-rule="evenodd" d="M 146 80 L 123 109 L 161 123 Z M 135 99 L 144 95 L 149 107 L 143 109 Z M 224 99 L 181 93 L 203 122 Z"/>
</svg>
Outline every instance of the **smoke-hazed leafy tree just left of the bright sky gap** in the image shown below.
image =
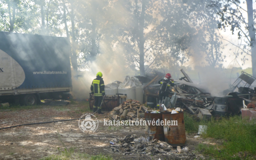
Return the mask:
<svg viewBox="0 0 256 160">
<path fill-rule="evenodd" d="M 217 24 L 219 21 L 216 13 L 219 7 L 210 7 L 209 1 L 196 1 L 198 7 L 193 12 L 193 17 L 195 18 L 191 17 L 193 20 L 191 22 L 195 22 L 195 26 L 198 26 L 196 27 L 198 30 L 197 41 L 200 42 L 197 45 L 198 49 L 205 55 L 205 60 L 210 67 L 222 67 L 226 56 L 223 55 L 222 49 L 224 49 L 224 45 L 222 45 L 222 38 L 218 34 Z"/>
</svg>

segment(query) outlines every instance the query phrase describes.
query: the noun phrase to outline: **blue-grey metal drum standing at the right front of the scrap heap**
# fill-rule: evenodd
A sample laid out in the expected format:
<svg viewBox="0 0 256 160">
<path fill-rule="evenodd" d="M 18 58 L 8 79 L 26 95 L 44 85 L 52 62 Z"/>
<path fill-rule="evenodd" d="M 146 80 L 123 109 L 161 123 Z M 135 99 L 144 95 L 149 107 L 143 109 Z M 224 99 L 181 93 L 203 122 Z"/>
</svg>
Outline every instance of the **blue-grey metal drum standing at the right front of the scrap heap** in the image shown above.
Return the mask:
<svg viewBox="0 0 256 160">
<path fill-rule="evenodd" d="M 213 114 L 225 116 L 228 111 L 228 97 L 215 97 Z"/>
</svg>

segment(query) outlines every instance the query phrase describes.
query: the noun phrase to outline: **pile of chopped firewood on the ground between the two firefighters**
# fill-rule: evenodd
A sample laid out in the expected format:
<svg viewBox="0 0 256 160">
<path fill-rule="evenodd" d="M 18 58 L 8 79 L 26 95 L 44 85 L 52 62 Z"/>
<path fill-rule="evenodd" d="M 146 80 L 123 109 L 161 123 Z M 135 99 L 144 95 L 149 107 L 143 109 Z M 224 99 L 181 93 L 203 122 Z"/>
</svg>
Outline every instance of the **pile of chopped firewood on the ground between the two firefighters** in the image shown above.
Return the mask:
<svg viewBox="0 0 256 160">
<path fill-rule="evenodd" d="M 109 113 L 109 118 L 112 120 L 136 120 L 144 118 L 145 111 L 150 111 L 150 108 L 145 107 L 139 101 L 128 99 L 123 104 L 115 107 Z"/>
</svg>

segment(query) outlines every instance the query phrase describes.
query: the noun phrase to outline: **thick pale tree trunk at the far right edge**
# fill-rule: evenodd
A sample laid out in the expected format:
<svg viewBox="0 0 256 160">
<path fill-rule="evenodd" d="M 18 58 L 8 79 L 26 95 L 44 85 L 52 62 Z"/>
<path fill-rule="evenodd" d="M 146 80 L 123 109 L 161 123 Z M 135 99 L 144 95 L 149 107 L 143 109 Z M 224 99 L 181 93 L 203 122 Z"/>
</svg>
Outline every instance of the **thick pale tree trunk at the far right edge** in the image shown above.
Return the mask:
<svg viewBox="0 0 256 160">
<path fill-rule="evenodd" d="M 247 5 L 247 15 L 248 15 L 248 32 L 251 39 L 251 50 L 252 50 L 252 69 L 253 76 L 256 77 L 256 42 L 255 42 L 255 29 L 253 21 L 253 1 L 246 0 Z"/>
</svg>

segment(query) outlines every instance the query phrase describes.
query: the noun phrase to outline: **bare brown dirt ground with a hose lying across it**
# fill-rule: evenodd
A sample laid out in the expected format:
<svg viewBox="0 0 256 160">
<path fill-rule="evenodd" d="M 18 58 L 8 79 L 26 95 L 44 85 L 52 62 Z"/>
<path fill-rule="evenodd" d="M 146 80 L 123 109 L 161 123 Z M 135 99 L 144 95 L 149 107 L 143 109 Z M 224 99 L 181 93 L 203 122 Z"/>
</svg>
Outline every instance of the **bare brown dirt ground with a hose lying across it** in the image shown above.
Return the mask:
<svg viewBox="0 0 256 160">
<path fill-rule="evenodd" d="M 91 113 L 83 104 L 67 106 L 36 106 L 26 110 L 0 110 L 0 128 L 27 123 L 56 121 L 61 119 L 80 118 L 84 113 Z M 86 111 L 87 112 L 84 112 Z M 96 114 L 99 127 L 96 132 L 82 132 L 78 120 L 53 122 L 37 125 L 20 126 L 0 130 L 0 160 L 37 160 L 50 155 L 58 155 L 65 148 L 75 148 L 75 152 L 88 155 L 110 155 L 114 160 L 190 160 L 206 159 L 196 151 L 199 143 L 214 144 L 211 139 L 195 139 L 196 134 L 186 135 L 188 153 L 178 154 L 176 148 L 171 155 L 123 155 L 110 149 L 110 141 L 114 138 L 123 139 L 126 135 L 145 136 L 143 126 L 103 126 L 103 118 L 108 119 L 108 112 Z M 60 150 L 58 150 L 58 148 Z"/>
</svg>

